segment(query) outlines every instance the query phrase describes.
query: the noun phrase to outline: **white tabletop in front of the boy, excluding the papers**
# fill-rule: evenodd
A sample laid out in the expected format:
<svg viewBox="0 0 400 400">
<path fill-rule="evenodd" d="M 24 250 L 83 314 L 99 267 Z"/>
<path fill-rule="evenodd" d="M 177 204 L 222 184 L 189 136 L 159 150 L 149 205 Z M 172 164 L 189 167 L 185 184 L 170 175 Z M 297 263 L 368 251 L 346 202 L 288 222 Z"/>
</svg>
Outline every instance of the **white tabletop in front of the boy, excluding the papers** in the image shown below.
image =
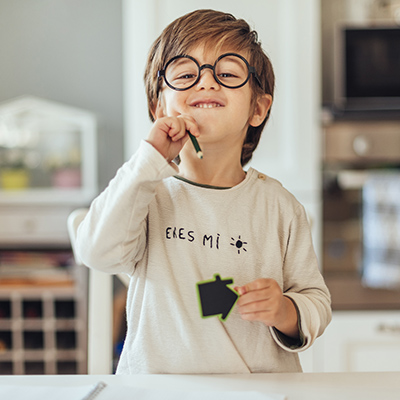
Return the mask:
<svg viewBox="0 0 400 400">
<path fill-rule="evenodd" d="M 400 399 L 400 372 L 251 375 L 0 376 L 0 385 L 70 386 L 94 384 L 99 381 L 104 381 L 109 385 L 136 386 L 141 388 L 157 387 L 165 390 L 255 390 L 271 394 L 285 394 L 288 400 Z"/>
</svg>

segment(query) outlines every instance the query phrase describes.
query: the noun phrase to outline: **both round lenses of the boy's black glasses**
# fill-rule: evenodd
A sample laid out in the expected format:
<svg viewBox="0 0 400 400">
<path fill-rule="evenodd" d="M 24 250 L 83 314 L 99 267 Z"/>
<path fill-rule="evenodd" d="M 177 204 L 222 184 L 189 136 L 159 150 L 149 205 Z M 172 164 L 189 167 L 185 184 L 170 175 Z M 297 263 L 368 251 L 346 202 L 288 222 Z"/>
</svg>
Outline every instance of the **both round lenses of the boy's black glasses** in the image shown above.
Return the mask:
<svg viewBox="0 0 400 400">
<path fill-rule="evenodd" d="M 223 86 L 235 88 L 243 85 L 249 78 L 247 64 L 235 55 L 222 57 L 214 65 L 217 81 Z M 199 77 L 198 64 L 187 57 L 179 57 L 168 64 L 165 80 L 175 89 L 184 90 L 194 85 Z"/>
</svg>

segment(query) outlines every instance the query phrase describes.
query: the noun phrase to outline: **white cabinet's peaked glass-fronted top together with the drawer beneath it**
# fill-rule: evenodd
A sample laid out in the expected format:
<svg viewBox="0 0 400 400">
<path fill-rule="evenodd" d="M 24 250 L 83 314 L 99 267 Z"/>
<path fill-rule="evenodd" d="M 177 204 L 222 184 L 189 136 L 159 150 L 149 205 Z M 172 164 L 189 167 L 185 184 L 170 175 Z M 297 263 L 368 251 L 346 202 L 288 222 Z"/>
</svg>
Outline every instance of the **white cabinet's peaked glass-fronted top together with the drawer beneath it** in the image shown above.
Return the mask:
<svg viewBox="0 0 400 400">
<path fill-rule="evenodd" d="M 69 213 L 97 194 L 96 126 L 34 96 L 0 104 L 0 247 L 69 245 Z"/>
</svg>

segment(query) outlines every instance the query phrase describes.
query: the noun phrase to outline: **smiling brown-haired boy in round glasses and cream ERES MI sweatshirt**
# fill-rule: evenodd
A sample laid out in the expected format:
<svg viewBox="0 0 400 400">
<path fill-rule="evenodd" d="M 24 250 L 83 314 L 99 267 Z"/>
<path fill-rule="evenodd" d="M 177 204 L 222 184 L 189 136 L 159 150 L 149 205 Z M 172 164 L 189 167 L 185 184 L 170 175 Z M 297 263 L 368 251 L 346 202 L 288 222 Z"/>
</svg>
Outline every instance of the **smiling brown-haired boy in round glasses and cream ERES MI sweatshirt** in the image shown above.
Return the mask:
<svg viewBox="0 0 400 400">
<path fill-rule="evenodd" d="M 297 352 L 328 325 L 330 296 L 303 207 L 243 170 L 274 90 L 256 32 L 189 13 L 154 42 L 145 82 L 154 124 L 93 201 L 76 248 L 89 267 L 131 276 L 117 373 L 301 371 Z M 239 295 L 225 320 L 199 312 L 197 285 L 216 275 Z"/>
</svg>

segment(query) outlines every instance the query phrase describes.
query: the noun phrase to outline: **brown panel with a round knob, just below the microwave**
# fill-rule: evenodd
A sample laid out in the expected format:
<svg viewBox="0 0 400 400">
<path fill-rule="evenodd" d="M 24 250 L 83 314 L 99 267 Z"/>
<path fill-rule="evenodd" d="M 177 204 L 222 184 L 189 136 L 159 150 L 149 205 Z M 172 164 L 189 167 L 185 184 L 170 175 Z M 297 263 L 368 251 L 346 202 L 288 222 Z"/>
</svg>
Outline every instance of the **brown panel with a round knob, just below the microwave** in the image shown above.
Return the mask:
<svg viewBox="0 0 400 400">
<path fill-rule="evenodd" d="M 400 122 L 340 122 L 324 130 L 326 162 L 400 162 Z"/>
</svg>

